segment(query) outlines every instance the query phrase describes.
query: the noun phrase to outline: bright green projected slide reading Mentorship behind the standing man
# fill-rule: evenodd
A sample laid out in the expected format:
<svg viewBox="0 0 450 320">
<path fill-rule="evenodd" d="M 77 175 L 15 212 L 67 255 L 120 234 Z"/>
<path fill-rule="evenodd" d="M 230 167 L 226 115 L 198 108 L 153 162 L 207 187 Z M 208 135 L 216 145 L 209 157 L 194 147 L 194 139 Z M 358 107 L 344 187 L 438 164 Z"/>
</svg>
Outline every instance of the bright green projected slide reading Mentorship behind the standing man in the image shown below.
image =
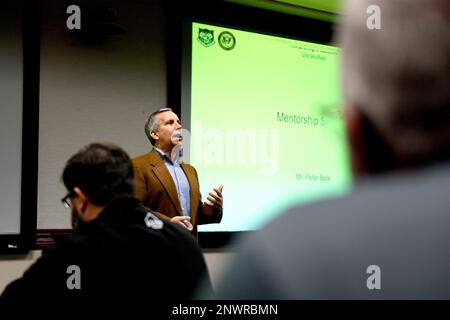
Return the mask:
<svg viewBox="0 0 450 320">
<path fill-rule="evenodd" d="M 283 209 L 348 192 L 340 49 L 192 23 L 190 159 L 220 224 L 257 230 Z"/>
</svg>

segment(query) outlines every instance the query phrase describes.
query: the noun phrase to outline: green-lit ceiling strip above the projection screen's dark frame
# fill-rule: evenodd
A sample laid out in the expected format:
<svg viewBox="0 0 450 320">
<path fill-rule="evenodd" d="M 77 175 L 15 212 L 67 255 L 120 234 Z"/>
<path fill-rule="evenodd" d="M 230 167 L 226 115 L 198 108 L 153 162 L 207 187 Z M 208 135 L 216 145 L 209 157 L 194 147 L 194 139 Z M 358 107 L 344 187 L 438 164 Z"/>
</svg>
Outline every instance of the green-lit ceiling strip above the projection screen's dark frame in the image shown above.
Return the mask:
<svg viewBox="0 0 450 320">
<path fill-rule="evenodd" d="M 342 0 L 225 0 L 242 5 L 334 22 Z"/>
</svg>

